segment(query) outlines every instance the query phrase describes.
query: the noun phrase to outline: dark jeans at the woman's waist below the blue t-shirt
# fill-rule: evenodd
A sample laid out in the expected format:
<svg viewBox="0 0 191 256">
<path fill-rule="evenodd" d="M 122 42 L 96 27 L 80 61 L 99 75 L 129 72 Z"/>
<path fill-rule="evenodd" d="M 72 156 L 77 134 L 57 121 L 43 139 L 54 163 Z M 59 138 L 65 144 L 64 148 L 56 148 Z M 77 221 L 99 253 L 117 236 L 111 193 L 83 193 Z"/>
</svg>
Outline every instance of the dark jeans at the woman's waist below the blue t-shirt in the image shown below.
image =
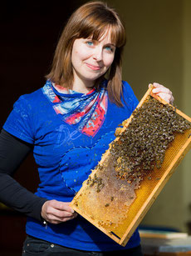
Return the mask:
<svg viewBox="0 0 191 256">
<path fill-rule="evenodd" d="M 113 251 L 113 252 L 89 252 L 89 251 L 81 251 L 73 248 L 66 248 L 61 245 L 50 243 L 38 238 L 32 238 L 31 236 L 27 236 L 23 249 L 22 256 L 63 256 L 63 255 L 71 255 L 71 256 L 143 256 L 141 252 L 141 247 L 130 248 L 127 250 Z"/>
</svg>

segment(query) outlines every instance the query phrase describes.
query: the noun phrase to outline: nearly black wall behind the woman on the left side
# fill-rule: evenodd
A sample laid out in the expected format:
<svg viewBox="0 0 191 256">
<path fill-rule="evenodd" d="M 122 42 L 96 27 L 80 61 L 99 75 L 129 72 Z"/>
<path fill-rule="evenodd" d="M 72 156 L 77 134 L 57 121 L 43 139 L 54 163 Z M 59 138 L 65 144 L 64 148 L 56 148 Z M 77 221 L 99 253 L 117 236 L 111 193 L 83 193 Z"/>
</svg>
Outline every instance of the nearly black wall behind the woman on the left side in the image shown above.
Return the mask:
<svg viewBox="0 0 191 256">
<path fill-rule="evenodd" d="M 20 95 L 41 88 L 61 30 L 71 13 L 86 1 L 6 1 L 0 6 L 0 127 Z M 24 187 L 37 189 L 32 154 L 14 176 Z M 0 254 L 21 255 L 26 218 L 0 205 Z"/>
</svg>

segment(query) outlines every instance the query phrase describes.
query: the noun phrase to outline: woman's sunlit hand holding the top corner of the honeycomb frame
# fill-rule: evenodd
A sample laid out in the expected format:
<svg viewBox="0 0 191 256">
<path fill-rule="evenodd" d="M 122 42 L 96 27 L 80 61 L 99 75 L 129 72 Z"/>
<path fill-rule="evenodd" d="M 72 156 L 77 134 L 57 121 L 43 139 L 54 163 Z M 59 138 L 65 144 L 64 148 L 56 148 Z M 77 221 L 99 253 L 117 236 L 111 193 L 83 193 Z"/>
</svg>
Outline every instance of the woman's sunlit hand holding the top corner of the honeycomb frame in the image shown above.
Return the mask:
<svg viewBox="0 0 191 256">
<path fill-rule="evenodd" d="M 159 97 L 164 99 L 167 103 L 174 103 L 173 93 L 168 88 L 165 88 L 162 84 L 159 83 L 153 83 L 153 85 L 154 89 L 152 90 L 152 93 L 159 95 Z M 149 87 L 150 86 L 151 83 L 149 83 Z"/>
</svg>

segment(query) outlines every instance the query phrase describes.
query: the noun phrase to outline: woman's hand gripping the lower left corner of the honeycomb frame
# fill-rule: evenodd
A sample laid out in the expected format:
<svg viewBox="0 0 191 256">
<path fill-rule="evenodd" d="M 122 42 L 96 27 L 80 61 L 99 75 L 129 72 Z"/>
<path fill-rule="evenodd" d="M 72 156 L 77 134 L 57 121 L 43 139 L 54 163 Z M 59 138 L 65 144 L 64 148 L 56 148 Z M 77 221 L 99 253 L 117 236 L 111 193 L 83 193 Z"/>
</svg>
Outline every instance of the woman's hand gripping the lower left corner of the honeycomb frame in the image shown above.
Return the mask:
<svg viewBox="0 0 191 256">
<path fill-rule="evenodd" d="M 42 205 L 42 218 L 47 222 L 58 224 L 77 217 L 77 213 L 69 206 L 70 203 L 49 200 Z"/>
</svg>

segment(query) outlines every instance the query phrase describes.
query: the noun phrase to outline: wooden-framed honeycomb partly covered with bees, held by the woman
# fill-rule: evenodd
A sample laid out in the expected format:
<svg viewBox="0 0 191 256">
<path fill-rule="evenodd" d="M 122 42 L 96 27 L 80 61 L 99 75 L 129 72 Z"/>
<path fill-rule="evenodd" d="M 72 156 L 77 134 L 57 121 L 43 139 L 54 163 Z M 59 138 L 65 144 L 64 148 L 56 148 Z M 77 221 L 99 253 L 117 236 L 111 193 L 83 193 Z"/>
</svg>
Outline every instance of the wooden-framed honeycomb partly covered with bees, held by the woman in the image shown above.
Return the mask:
<svg viewBox="0 0 191 256">
<path fill-rule="evenodd" d="M 190 118 L 149 88 L 71 207 L 122 246 L 191 145 Z"/>
</svg>

